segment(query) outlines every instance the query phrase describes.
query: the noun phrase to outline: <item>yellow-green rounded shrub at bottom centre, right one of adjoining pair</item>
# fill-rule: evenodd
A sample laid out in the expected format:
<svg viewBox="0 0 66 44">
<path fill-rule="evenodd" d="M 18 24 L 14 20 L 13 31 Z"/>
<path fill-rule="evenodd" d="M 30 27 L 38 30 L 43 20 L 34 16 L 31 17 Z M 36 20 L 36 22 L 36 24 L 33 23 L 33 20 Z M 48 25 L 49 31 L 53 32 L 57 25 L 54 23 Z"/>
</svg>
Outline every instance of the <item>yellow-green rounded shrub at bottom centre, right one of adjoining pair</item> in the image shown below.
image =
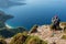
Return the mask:
<svg viewBox="0 0 66 44">
<path fill-rule="evenodd" d="M 47 44 L 47 42 L 40 40 L 37 36 L 29 36 L 24 44 Z"/>
</svg>

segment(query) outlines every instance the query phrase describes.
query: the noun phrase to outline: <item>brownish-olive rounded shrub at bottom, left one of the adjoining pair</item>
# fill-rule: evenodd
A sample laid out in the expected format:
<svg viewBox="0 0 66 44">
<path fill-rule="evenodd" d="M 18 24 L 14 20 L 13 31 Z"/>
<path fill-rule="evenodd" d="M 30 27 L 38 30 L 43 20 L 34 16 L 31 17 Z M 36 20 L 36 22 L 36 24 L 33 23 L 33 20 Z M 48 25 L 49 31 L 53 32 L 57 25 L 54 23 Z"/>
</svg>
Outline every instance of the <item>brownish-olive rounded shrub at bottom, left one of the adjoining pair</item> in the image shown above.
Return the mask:
<svg viewBox="0 0 66 44">
<path fill-rule="evenodd" d="M 28 35 L 25 35 L 24 33 L 19 33 L 16 35 L 13 36 L 13 40 L 10 42 L 10 44 L 23 44 L 26 40 Z"/>
</svg>

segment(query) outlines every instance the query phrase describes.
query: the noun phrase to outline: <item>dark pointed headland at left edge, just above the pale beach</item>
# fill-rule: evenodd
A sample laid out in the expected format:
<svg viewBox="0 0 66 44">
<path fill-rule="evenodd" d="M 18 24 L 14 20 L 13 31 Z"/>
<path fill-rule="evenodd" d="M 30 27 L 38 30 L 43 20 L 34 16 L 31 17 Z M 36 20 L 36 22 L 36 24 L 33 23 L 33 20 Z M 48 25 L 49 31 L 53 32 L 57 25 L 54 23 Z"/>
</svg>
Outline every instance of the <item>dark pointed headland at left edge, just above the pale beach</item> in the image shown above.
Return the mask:
<svg viewBox="0 0 66 44">
<path fill-rule="evenodd" d="M 12 18 L 13 15 L 10 15 L 10 14 L 4 13 L 3 11 L 0 11 L 0 28 L 4 28 L 6 21 Z"/>
</svg>

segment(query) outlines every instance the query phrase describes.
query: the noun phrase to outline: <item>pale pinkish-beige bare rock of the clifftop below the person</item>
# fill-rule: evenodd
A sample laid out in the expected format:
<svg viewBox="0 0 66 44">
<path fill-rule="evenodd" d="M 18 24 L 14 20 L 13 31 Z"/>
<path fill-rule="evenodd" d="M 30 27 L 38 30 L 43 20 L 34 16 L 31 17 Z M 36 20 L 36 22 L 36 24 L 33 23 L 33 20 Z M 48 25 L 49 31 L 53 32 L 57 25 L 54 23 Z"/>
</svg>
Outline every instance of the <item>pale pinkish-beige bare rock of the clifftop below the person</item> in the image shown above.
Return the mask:
<svg viewBox="0 0 66 44">
<path fill-rule="evenodd" d="M 30 35 L 38 36 L 41 40 L 47 41 L 48 44 L 53 44 L 54 42 L 56 44 L 66 44 L 66 40 L 62 38 L 62 36 L 64 35 L 64 32 L 59 30 L 52 31 L 50 25 L 42 25 L 42 26 L 38 26 L 36 30 L 37 30 L 36 33 L 31 33 Z"/>
</svg>

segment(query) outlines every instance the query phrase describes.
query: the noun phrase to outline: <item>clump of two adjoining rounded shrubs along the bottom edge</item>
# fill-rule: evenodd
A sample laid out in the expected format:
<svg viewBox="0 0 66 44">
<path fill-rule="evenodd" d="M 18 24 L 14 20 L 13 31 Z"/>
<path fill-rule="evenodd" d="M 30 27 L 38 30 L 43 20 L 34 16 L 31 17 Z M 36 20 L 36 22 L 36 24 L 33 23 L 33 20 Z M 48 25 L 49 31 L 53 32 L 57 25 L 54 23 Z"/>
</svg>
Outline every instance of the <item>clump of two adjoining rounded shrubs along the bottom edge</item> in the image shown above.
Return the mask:
<svg viewBox="0 0 66 44">
<path fill-rule="evenodd" d="M 10 44 L 47 44 L 47 42 L 40 40 L 37 36 L 28 35 L 25 32 L 14 35 Z"/>
</svg>

